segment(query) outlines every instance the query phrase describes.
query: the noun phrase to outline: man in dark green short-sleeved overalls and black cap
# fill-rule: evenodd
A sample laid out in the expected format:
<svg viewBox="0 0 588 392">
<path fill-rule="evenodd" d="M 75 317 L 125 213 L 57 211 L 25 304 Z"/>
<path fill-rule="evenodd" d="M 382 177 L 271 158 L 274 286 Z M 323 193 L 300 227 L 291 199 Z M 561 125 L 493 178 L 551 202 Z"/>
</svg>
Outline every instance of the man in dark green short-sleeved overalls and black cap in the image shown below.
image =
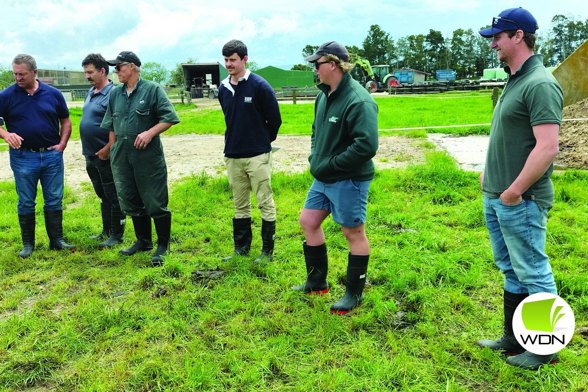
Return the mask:
<svg viewBox="0 0 588 392">
<path fill-rule="evenodd" d="M 141 60 L 129 51 L 107 61 L 122 84 L 113 87 L 101 127 L 109 129 L 111 167 L 121 210 L 130 215 L 137 241 L 120 254 L 153 249 L 151 218 L 158 247 L 151 261 L 162 265 L 169 253 L 172 212 L 168 169 L 159 134 L 179 118 L 161 85 L 141 78 Z"/>
</svg>

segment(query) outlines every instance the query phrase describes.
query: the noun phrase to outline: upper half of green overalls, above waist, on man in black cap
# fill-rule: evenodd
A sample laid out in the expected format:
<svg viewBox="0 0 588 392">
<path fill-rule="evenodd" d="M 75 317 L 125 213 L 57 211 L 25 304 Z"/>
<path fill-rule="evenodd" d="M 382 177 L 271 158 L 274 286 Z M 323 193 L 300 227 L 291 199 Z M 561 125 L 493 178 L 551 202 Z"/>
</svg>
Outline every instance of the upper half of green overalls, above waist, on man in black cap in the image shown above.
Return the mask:
<svg viewBox="0 0 588 392">
<path fill-rule="evenodd" d="M 126 84 L 112 88 L 101 127 L 114 131 L 116 140 L 135 140 L 159 122 L 178 123 L 180 119 L 163 87 L 139 78 L 131 94 Z"/>
</svg>

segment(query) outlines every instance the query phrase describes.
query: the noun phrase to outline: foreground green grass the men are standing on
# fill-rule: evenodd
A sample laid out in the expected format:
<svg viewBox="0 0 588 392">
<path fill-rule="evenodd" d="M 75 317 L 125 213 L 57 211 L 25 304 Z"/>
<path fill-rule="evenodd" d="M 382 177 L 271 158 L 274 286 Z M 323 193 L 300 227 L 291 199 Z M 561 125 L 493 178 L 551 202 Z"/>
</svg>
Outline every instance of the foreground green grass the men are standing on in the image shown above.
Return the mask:
<svg viewBox="0 0 588 392">
<path fill-rule="evenodd" d="M 38 250 L 19 259 L 14 182 L 1 182 L 0 390 L 588 390 L 586 333 L 540 371 L 509 367 L 475 346 L 502 333 L 503 287 L 475 173 L 435 151 L 425 164 L 376 172 L 370 284 L 363 305 L 343 316 L 328 311 L 344 291 L 347 253 L 330 218 L 331 290 L 289 290 L 305 278 L 297 219 L 311 181 L 308 172 L 273 175 L 276 259 L 263 267 L 250 263 L 260 248 L 259 210 L 250 257 L 222 263 L 232 252 L 228 181 L 178 182 L 170 191 L 173 254 L 157 269 L 149 254 L 123 258 L 87 239 L 101 226 L 90 185 L 64 198 L 65 235 L 78 251 L 48 250 L 38 200 Z M 577 327 L 588 326 L 588 175 L 569 171 L 554 186 L 547 254 Z M 131 244 L 131 225 L 126 237 Z M 218 280 L 192 275 L 216 267 L 226 271 Z"/>
</svg>

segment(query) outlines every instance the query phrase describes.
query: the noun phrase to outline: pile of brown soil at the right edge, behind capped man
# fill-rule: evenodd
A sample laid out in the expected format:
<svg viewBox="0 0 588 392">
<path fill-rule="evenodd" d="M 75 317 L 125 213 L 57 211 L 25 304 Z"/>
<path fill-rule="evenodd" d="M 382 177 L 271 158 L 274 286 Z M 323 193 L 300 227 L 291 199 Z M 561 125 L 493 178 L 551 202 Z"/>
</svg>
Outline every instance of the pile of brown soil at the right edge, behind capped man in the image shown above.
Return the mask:
<svg viewBox="0 0 588 392">
<path fill-rule="evenodd" d="M 588 118 L 588 98 L 563 108 L 563 118 Z M 563 121 L 556 165 L 588 169 L 588 120 Z"/>
</svg>

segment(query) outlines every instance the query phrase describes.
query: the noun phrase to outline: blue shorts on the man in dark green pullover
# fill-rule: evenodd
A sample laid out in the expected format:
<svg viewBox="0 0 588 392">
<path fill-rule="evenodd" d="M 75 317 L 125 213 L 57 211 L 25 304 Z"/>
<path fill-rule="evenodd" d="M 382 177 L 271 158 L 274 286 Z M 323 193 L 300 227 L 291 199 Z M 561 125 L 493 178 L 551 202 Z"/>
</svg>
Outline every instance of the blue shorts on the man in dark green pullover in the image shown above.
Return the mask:
<svg viewBox="0 0 588 392">
<path fill-rule="evenodd" d="M 343 227 L 356 227 L 366 221 L 368 190 L 372 180 L 343 180 L 333 184 L 315 179 L 306 194 L 304 208 L 328 210 L 333 221 Z"/>
</svg>

